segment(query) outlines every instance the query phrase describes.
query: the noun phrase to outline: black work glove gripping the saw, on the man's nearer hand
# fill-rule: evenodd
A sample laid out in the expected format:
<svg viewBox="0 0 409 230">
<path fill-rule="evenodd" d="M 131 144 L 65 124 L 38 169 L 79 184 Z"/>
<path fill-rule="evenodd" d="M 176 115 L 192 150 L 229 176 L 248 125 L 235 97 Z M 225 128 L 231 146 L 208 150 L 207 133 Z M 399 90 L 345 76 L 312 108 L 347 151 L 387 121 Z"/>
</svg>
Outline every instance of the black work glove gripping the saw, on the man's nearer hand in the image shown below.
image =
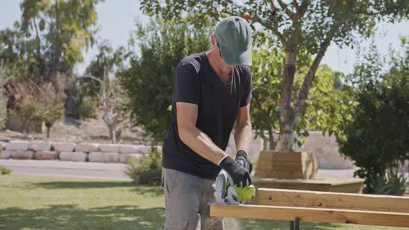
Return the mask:
<svg viewBox="0 0 409 230">
<path fill-rule="evenodd" d="M 241 166 L 239 163 L 233 160 L 232 157 L 226 157 L 219 165 L 221 168 L 229 173 L 230 177 L 233 179 L 233 183 L 238 187 L 250 186 L 252 184 L 252 177 L 250 177 L 250 172 Z"/>
</svg>

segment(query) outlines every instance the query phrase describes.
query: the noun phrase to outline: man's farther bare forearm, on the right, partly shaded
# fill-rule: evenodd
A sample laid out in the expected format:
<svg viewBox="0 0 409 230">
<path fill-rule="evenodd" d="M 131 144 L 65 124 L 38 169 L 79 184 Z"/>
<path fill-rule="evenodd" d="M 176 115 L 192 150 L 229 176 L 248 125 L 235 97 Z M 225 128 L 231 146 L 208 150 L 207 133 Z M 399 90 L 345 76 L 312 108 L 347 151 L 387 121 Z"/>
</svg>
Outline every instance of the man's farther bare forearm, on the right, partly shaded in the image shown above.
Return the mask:
<svg viewBox="0 0 409 230">
<path fill-rule="evenodd" d="M 239 107 L 236 120 L 236 132 L 234 141 L 236 141 L 237 150 L 250 150 L 250 139 L 252 138 L 252 123 L 250 121 L 250 103 L 245 107 Z"/>
</svg>

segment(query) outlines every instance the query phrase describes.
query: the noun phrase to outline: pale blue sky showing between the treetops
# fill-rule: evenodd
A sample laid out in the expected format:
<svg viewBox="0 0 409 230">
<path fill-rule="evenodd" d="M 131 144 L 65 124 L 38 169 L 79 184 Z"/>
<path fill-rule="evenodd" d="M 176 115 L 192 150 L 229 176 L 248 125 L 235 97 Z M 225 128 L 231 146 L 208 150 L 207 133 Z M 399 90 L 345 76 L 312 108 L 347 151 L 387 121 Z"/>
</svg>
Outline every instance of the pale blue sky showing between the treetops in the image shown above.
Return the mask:
<svg viewBox="0 0 409 230">
<path fill-rule="evenodd" d="M 11 27 L 19 20 L 21 10 L 19 0 L 0 0 L 0 30 Z M 148 21 L 148 17 L 139 10 L 138 0 L 105 0 L 96 6 L 98 14 L 98 39 L 107 39 L 114 48 L 126 46 L 130 32 L 134 29 L 135 20 Z M 401 36 L 409 36 L 409 21 L 397 24 L 380 23 L 374 35 L 374 43 L 381 54 L 387 54 L 390 46 L 399 49 Z M 369 46 L 370 39 L 360 43 L 362 48 Z M 85 61 L 77 64 L 76 72 L 83 73 L 87 64 L 97 53 L 97 46 L 84 51 Z M 321 64 L 327 64 L 333 71 L 351 73 L 356 62 L 356 47 L 338 48 L 331 44 Z"/>
</svg>

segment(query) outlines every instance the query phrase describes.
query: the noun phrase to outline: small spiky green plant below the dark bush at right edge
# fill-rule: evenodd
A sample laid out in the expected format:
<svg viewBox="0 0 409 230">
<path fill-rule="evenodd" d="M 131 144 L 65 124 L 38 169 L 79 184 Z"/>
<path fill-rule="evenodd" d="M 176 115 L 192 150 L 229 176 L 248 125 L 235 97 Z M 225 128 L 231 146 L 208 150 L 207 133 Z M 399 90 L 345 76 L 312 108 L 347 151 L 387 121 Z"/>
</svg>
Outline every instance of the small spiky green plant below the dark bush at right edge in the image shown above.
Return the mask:
<svg viewBox="0 0 409 230">
<path fill-rule="evenodd" d="M 397 168 L 388 168 L 385 175 L 380 175 L 373 180 L 374 192 L 379 195 L 402 195 L 406 192 L 408 178 L 404 173 L 399 173 Z"/>
</svg>

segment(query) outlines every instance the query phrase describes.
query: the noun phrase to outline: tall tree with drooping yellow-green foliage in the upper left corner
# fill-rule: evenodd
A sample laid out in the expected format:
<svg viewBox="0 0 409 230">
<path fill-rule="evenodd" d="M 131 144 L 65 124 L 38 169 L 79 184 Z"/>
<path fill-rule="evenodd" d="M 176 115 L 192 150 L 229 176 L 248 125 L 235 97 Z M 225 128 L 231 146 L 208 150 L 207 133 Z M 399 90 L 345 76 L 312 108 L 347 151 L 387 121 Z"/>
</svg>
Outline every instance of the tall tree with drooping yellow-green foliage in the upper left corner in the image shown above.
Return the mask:
<svg viewBox="0 0 409 230">
<path fill-rule="evenodd" d="M 94 44 L 98 0 L 24 0 L 21 21 L 0 31 L 0 60 L 15 63 L 20 78 L 37 83 L 71 73 L 82 49 Z M 58 89 L 60 90 L 60 89 Z"/>
</svg>

